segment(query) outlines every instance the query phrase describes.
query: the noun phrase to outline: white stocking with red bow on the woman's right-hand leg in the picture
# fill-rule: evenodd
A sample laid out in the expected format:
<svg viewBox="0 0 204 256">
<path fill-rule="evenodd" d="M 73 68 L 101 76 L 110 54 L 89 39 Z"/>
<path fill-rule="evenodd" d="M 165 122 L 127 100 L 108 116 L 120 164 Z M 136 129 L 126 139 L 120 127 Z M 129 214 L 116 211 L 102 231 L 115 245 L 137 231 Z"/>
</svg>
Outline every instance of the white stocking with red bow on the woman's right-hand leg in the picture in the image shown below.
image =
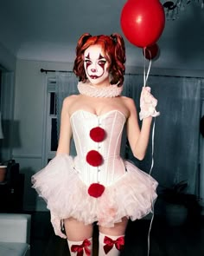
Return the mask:
<svg viewBox="0 0 204 256">
<path fill-rule="evenodd" d="M 124 235 L 99 233 L 99 256 L 118 256 L 124 249 Z"/>
</svg>

